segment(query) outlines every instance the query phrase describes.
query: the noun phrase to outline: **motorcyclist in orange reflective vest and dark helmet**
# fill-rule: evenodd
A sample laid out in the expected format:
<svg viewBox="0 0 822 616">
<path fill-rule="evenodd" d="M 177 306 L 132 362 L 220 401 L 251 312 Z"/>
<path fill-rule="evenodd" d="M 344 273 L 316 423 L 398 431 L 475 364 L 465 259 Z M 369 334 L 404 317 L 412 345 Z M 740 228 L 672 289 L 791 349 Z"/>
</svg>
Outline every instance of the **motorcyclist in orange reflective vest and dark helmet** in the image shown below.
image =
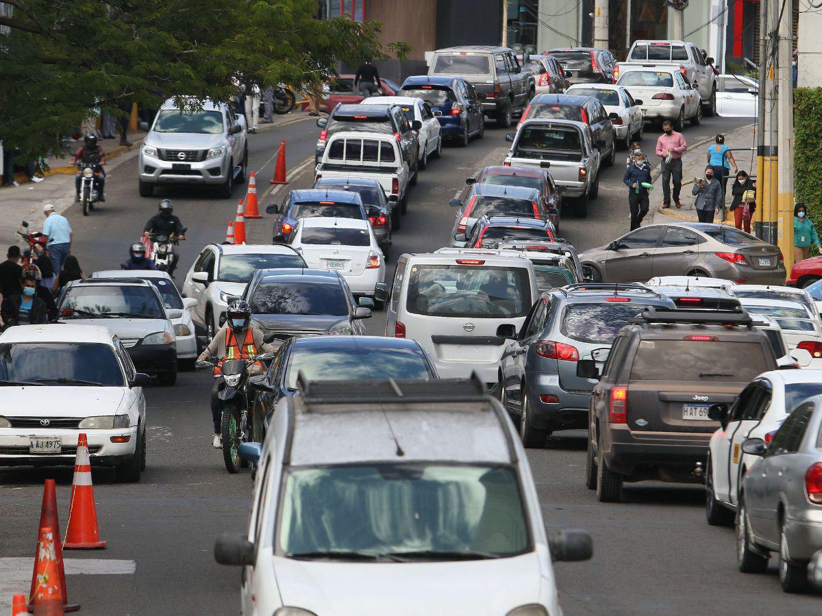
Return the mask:
<svg viewBox="0 0 822 616">
<path fill-rule="evenodd" d="M 232 301 L 225 317 L 225 324 L 197 359 L 209 360 L 215 357 L 220 360 L 251 359 L 279 348 L 277 343 L 263 342 L 261 330 L 251 326 L 252 310 L 247 301 Z M 261 374 L 262 366 L 256 363 L 250 370 L 252 375 L 258 375 Z M 224 387 L 223 379 L 215 379 L 211 388 L 211 420 L 214 421 L 214 439 L 211 444 L 218 449 L 223 446 L 223 439 L 219 434 L 222 407 L 217 398 L 222 387 Z"/>
</svg>

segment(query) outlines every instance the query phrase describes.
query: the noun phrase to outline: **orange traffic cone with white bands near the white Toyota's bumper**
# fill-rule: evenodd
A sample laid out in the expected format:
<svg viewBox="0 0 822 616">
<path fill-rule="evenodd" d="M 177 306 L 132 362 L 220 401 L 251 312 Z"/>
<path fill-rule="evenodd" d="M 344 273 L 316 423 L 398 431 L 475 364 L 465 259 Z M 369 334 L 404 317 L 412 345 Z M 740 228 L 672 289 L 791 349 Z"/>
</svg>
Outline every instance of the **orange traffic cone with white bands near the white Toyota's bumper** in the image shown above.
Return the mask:
<svg viewBox="0 0 822 616">
<path fill-rule="evenodd" d="M 72 504 L 68 510 L 68 528 L 63 549 L 104 548 L 97 528 L 95 490 L 91 486 L 91 462 L 89 460 L 89 440 L 81 432 L 77 439 L 77 457 L 74 462 L 72 481 Z"/>
</svg>

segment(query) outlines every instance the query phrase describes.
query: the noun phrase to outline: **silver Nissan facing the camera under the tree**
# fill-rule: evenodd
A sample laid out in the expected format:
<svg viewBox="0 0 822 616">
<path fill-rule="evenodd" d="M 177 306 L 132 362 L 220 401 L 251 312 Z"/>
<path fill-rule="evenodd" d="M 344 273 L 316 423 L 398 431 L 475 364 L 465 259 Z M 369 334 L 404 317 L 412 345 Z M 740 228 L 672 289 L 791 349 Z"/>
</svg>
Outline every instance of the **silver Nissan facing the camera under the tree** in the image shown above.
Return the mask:
<svg viewBox="0 0 822 616">
<path fill-rule="evenodd" d="M 205 101 L 199 111 L 182 110 L 174 99 L 160 108 L 140 149 L 140 196 L 169 184 L 212 184 L 230 197 L 234 182 L 246 181 L 247 133 L 224 103 Z"/>
</svg>

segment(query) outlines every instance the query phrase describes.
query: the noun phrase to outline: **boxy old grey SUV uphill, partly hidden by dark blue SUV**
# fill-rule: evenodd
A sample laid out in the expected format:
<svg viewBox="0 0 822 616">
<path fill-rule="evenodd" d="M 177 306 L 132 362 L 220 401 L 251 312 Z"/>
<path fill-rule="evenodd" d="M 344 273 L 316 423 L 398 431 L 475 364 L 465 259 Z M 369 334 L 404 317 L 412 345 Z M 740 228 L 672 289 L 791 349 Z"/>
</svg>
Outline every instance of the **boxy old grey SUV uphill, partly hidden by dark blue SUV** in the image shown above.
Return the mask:
<svg viewBox="0 0 822 616">
<path fill-rule="evenodd" d="M 520 67 L 515 53 L 507 47 L 464 45 L 437 49 L 428 67 L 430 76 L 459 76 L 468 81 L 481 99 L 483 112 L 496 119 L 497 126 L 511 125 L 514 113 L 524 110 L 533 96 L 533 77 Z"/>
</svg>

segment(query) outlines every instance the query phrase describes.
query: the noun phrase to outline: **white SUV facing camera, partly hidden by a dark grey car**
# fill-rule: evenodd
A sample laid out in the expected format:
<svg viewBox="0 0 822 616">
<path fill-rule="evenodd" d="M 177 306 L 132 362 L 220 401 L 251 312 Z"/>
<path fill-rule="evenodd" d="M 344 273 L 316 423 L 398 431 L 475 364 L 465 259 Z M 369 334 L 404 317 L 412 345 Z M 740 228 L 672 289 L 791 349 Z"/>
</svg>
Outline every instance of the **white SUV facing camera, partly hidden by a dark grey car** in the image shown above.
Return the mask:
<svg viewBox="0 0 822 616">
<path fill-rule="evenodd" d="M 210 340 L 222 325 L 231 298 L 242 295 L 257 270 L 302 267 L 307 267 L 302 256 L 281 244 L 207 244 L 183 280 L 182 297 L 196 300 L 192 320 Z"/>
</svg>

